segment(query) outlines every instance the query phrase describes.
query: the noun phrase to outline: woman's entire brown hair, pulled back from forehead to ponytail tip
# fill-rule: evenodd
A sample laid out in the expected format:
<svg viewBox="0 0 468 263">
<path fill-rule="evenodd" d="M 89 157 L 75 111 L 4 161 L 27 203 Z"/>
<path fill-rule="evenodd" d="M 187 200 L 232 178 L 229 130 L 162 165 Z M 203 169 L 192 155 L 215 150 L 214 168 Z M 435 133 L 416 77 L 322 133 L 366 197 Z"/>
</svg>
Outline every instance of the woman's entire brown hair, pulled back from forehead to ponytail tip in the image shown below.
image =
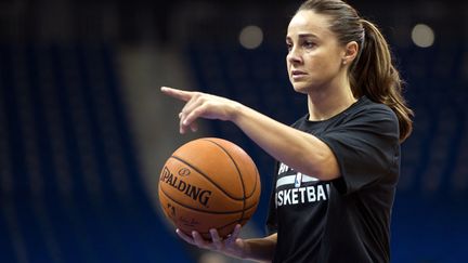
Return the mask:
<svg viewBox="0 0 468 263">
<path fill-rule="evenodd" d="M 406 140 L 413 130 L 411 117 L 414 114 L 402 95 L 403 81 L 379 29 L 340 0 L 307 0 L 298 12 L 303 10 L 329 16 L 329 29 L 341 44 L 359 43 L 360 52 L 349 69 L 352 92 L 356 97 L 366 95 L 389 106 L 399 119 L 400 142 Z"/>
</svg>

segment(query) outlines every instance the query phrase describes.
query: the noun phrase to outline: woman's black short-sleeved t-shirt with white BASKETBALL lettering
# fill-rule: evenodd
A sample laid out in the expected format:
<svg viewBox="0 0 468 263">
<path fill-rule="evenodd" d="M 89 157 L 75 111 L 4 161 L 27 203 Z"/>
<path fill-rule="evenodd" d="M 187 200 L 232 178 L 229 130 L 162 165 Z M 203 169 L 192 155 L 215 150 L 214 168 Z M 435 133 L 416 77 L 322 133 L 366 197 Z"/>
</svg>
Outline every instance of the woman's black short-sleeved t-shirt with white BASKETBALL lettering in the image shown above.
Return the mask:
<svg viewBox="0 0 468 263">
<path fill-rule="evenodd" d="M 276 163 L 266 226 L 277 233 L 273 262 L 390 261 L 390 218 L 400 174 L 399 123 L 367 97 L 324 121 L 292 124 L 325 142 L 341 176 L 318 181 Z"/>
</svg>

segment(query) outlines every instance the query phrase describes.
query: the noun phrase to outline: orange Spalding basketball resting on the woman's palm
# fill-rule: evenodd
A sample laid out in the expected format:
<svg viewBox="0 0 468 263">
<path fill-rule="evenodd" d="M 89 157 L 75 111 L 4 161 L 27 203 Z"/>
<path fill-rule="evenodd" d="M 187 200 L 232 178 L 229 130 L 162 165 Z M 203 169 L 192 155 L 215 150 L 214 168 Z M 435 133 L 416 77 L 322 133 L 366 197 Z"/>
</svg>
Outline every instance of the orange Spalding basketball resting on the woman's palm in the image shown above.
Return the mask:
<svg viewBox="0 0 468 263">
<path fill-rule="evenodd" d="M 166 161 L 158 195 L 166 218 L 188 236 L 197 231 L 211 239 L 236 224 L 245 225 L 257 209 L 260 176 L 250 156 L 236 144 L 217 137 L 191 141 Z"/>
</svg>

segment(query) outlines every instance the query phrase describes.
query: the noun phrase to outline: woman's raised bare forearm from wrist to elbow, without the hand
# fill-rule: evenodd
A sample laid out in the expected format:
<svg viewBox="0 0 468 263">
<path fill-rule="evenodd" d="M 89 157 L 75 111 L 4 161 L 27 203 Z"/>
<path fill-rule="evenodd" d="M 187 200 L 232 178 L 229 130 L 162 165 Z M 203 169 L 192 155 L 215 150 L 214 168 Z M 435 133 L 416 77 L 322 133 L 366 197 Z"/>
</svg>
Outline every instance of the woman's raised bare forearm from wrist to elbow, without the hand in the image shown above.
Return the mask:
<svg viewBox="0 0 468 263">
<path fill-rule="evenodd" d="M 335 156 L 317 137 L 239 104 L 232 121 L 275 159 L 318 179 L 338 176 Z"/>
</svg>

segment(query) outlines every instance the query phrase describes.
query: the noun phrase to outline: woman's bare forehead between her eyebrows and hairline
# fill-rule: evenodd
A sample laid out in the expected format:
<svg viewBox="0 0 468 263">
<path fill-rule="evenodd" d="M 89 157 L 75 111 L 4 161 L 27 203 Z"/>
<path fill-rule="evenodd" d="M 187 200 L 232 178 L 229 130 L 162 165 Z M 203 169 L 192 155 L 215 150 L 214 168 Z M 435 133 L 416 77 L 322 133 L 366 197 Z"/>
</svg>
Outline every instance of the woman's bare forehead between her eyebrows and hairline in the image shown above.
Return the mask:
<svg viewBox="0 0 468 263">
<path fill-rule="evenodd" d="M 318 38 L 330 37 L 329 17 L 310 10 L 299 11 L 289 22 L 286 37 L 310 34 Z"/>
</svg>

